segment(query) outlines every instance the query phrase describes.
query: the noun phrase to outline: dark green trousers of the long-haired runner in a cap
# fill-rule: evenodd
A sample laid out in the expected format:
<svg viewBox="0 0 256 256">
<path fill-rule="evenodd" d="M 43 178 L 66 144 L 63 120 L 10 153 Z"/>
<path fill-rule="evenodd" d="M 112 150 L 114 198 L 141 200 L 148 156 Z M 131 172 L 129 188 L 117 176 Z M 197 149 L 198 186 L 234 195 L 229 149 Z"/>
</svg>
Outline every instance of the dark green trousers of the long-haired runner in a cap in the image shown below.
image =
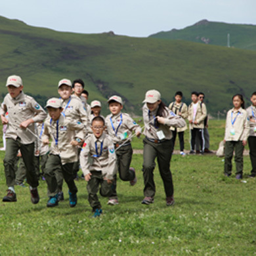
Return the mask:
<svg viewBox="0 0 256 256">
<path fill-rule="evenodd" d="M 161 179 L 163 180 L 165 195 L 173 196 L 173 178 L 170 170 L 173 141 L 165 140 L 160 143 L 155 143 L 148 139 L 144 139 L 143 143 L 144 196 L 150 196 L 153 198 L 156 193 L 156 186 L 154 182 L 154 169 L 156 167 L 155 159 L 158 161 L 158 167 Z"/>
</svg>

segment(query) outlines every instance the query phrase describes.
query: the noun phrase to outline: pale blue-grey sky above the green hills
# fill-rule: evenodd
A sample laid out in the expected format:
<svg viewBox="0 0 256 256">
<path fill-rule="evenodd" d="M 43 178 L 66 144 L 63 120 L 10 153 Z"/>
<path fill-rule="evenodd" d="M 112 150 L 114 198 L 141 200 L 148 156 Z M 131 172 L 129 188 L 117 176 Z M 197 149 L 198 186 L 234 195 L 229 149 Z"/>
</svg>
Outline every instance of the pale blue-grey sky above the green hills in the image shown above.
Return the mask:
<svg viewBox="0 0 256 256">
<path fill-rule="evenodd" d="M 0 15 L 60 32 L 147 37 L 209 21 L 256 25 L 256 0 L 2 0 Z"/>
</svg>

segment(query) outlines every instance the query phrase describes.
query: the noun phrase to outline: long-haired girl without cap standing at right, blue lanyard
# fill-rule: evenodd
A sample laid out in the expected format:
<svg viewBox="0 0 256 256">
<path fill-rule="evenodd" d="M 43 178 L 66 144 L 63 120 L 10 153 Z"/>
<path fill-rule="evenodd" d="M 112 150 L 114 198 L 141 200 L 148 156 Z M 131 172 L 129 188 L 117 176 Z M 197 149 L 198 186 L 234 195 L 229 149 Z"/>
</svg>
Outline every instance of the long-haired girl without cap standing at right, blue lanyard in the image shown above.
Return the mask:
<svg viewBox="0 0 256 256">
<path fill-rule="evenodd" d="M 224 149 L 224 175 L 229 177 L 232 171 L 232 158 L 235 152 L 236 179 L 242 179 L 244 159 L 243 152 L 249 135 L 249 121 L 244 110 L 244 98 L 242 95 L 234 95 L 234 108 L 226 114 L 225 149 Z"/>
</svg>

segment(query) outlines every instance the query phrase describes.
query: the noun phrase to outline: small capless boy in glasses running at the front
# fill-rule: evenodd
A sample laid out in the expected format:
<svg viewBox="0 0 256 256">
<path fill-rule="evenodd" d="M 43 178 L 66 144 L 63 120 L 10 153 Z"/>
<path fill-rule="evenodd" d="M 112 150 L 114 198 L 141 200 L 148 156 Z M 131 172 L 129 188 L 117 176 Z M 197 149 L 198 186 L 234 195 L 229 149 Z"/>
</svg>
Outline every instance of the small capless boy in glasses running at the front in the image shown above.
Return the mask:
<svg viewBox="0 0 256 256">
<path fill-rule="evenodd" d="M 112 181 L 116 174 L 116 154 L 112 139 L 103 133 L 105 129 L 104 119 L 100 116 L 93 118 L 90 134 L 85 139 L 83 150 L 80 155 L 81 169 L 87 181 L 88 200 L 93 208 L 93 217 L 102 214 L 98 201 L 98 188 L 101 196 L 112 194 Z M 91 158 L 91 164 L 88 161 Z"/>
</svg>

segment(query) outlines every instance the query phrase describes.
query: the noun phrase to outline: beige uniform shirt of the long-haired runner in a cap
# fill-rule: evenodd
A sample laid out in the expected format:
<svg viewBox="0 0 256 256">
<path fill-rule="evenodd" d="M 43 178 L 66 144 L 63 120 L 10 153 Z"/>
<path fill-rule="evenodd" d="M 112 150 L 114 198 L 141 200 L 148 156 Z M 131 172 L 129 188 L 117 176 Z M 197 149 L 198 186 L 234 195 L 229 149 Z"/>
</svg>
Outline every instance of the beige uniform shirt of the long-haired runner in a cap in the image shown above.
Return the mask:
<svg viewBox="0 0 256 256">
<path fill-rule="evenodd" d="M 164 114 L 165 124 L 156 124 L 156 113 L 158 112 L 158 108 L 152 112 L 148 110 L 146 104 L 144 104 L 142 108 L 143 112 L 143 120 L 145 129 L 143 134 L 149 139 L 160 139 L 157 135 L 158 131 L 162 131 L 164 135 L 164 139 L 170 140 L 173 137 L 173 133 L 171 132 L 170 127 L 184 127 L 186 125 L 186 121 L 181 116 L 172 116 L 171 111 L 168 108 L 165 108 L 166 112 Z"/>
</svg>

